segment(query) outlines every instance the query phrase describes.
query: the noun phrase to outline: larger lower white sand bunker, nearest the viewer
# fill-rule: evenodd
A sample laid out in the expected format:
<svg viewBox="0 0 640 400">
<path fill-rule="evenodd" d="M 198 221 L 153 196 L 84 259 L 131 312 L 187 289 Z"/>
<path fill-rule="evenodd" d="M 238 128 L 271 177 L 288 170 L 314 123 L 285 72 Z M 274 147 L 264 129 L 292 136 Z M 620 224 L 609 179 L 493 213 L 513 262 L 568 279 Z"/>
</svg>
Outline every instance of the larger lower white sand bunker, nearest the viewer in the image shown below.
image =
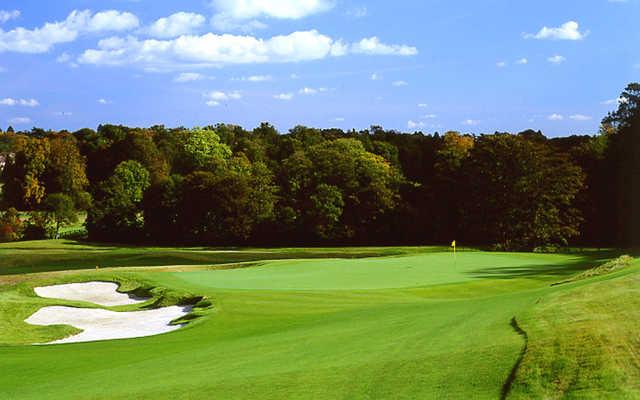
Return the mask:
<svg viewBox="0 0 640 400">
<path fill-rule="evenodd" d="M 180 329 L 169 325 L 191 311 L 191 307 L 172 306 L 155 310 L 115 312 L 100 309 L 44 307 L 25 320 L 32 325 L 71 325 L 83 332 L 53 343 L 92 342 L 159 335 Z M 48 343 L 48 344 L 49 344 Z"/>
</svg>

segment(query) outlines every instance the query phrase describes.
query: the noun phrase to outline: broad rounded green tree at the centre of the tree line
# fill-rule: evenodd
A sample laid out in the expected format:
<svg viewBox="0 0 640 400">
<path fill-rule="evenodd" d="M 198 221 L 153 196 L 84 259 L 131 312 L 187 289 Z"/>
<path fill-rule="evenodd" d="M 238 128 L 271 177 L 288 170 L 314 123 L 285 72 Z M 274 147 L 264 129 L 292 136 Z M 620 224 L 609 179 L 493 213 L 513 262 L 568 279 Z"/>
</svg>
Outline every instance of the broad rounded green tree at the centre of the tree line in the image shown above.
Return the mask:
<svg viewBox="0 0 640 400">
<path fill-rule="evenodd" d="M 293 217 L 297 230 L 323 239 L 365 240 L 399 200 L 399 171 L 356 139 L 320 142 L 284 166 L 281 212 Z"/>
</svg>

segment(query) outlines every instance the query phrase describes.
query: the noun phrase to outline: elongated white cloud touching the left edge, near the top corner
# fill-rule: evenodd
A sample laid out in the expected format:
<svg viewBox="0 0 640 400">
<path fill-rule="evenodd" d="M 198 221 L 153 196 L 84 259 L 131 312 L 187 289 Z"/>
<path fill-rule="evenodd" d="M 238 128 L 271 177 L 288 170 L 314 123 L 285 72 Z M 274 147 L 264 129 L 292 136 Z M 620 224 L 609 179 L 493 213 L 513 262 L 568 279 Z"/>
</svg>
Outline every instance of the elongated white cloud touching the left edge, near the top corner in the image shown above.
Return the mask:
<svg viewBox="0 0 640 400">
<path fill-rule="evenodd" d="M 64 21 L 47 22 L 40 28 L 0 29 L 0 53 L 46 53 L 56 44 L 75 41 L 81 34 L 126 31 L 138 25 L 138 18 L 128 12 L 108 10 L 92 14 L 89 10 L 74 10 Z"/>
</svg>

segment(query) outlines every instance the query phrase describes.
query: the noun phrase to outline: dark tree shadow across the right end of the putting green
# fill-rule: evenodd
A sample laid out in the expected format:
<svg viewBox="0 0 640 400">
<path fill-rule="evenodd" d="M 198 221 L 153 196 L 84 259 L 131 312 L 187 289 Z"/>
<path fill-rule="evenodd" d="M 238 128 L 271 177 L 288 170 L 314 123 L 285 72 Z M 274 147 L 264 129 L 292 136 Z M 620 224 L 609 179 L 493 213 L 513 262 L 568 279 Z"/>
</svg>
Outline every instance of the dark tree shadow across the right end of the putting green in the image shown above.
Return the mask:
<svg viewBox="0 0 640 400">
<path fill-rule="evenodd" d="M 622 250 L 592 250 L 580 254 L 571 253 L 577 259 L 566 263 L 518 265 L 515 267 L 481 268 L 468 272 L 474 278 L 513 279 L 566 277 L 601 265 L 624 254 Z"/>
</svg>

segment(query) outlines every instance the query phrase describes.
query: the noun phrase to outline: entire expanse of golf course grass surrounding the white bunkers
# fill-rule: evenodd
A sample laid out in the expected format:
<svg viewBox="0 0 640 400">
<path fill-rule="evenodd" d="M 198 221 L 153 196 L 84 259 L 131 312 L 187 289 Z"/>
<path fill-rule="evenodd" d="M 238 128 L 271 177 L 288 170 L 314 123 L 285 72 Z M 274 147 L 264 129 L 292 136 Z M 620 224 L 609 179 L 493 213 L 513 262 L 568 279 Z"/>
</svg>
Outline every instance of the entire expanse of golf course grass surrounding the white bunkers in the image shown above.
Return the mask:
<svg viewBox="0 0 640 400">
<path fill-rule="evenodd" d="M 640 396 L 640 266 L 551 286 L 612 252 L 469 251 L 454 262 L 438 248 L 211 250 L 0 246 L 0 398 L 492 399 L 510 377 L 514 398 Z M 98 261 L 118 268 L 9 275 Z M 166 267 L 126 268 L 140 265 Z M 90 279 L 214 307 L 165 335 L 25 346 L 70 329 L 21 322 L 60 303 L 30 288 Z"/>
</svg>

